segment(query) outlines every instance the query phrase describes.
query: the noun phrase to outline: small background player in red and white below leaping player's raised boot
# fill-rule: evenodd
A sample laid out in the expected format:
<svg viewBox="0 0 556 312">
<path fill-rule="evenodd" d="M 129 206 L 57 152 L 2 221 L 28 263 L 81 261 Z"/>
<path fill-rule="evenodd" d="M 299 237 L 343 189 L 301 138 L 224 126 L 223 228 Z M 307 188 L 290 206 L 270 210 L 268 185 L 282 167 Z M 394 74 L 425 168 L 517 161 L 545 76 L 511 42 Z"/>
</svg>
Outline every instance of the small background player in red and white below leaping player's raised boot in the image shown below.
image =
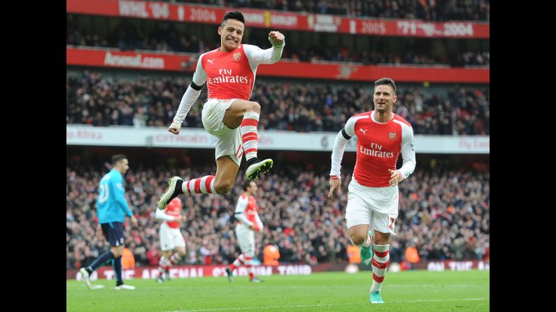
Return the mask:
<svg viewBox="0 0 556 312">
<path fill-rule="evenodd" d="M 241 255 L 226 268 L 229 281 L 232 281 L 234 269 L 245 265 L 249 274 L 249 281 L 262 282 L 262 279 L 255 277 L 252 265 L 253 258 L 255 258 L 255 231 L 260 232 L 263 228 L 261 218 L 257 213 L 257 202 L 255 196 L 253 196 L 257 193 L 257 189 L 255 181 L 247 180 L 243 183 L 243 191 L 245 192 L 238 198 L 234 216 L 238 220 L 236 238 L 241 249 Z"/>
</svg>

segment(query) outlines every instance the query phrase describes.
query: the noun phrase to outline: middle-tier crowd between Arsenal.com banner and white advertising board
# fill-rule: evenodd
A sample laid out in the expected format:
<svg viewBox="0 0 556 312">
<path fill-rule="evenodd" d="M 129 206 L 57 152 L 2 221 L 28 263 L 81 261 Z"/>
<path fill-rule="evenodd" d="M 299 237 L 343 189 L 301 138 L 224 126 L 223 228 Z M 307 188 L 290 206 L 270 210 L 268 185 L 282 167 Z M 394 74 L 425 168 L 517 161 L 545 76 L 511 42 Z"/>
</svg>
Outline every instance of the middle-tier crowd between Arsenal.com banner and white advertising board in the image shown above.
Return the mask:
<svg viewBox="0 0 556 312">
<path fill-rule="evenodd" d="M 66 124 L 92 126 L 167 127 L 185 89 L 184 77 L 139 77 L 114 80 L 85 71 L 66 80 Z M 262 107 L 259 129 L 299 132 L 339 131 L 353 114 L 371 110 L 371 84 L 277 82 L 257 79 L 251 101 Z M 489 135 L 490 89 L 453 86 L 427 88 L 399 84 L 394 112 L 413 126 L 415 134 Z M 203 128 L 206 88 L 187 114 L 183 126 Z"/>
</svg>

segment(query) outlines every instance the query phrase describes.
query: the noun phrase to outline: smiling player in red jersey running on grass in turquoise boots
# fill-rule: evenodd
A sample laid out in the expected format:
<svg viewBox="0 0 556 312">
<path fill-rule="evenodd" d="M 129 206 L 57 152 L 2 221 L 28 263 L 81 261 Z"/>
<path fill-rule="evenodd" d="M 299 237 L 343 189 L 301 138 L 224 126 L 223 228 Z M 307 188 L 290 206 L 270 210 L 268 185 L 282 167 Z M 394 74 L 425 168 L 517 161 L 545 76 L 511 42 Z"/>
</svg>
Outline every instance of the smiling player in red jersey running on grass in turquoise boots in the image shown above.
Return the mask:
<svg viewBox="0 0 556 312">
<path fill-rule="evenodd" d="M 352 243 L 361 247 L 362 261 L 371 264 L 373 269 L 369 294 L 372 304 L 384 303 L 380 286 L 390 263 L 390 235 L 396 234 L 398 184 L 415 170 L 413 128 L 392 113 L 396 101 L 394 81 L 390 78 L 377 80 L 373 95 L 375 110 L 351 117 L 336 136 L 332 150 L 328 197 L 341 186 L 343 151 L 348 140 L 357 135 L 357 161 L 348 186 L 345 219 Z M 404 163 L 396 170 L 400 152 Z M 371 224 L 373 231 L 369 230 Z"/>
</svg>

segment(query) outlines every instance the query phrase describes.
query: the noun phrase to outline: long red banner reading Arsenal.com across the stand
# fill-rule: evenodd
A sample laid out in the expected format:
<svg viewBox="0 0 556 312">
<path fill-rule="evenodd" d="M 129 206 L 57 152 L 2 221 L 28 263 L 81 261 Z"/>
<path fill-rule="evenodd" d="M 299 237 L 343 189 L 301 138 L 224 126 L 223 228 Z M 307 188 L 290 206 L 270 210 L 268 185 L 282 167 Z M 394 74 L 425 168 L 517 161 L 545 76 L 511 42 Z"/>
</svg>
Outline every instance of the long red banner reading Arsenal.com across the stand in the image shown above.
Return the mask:
<svg viewBox="0 0 556 312">
<path fill-rule="evenodd" d="M 156 54 L 117 49 L 66 47 L 66 64 L 147 70 L 194 71 L 197 54 Z M 279 65 L 278 65 L 279 64 Z M 327 80 L 374 81 L 390 77 L 401 82 L 489 83 L 489 68 L 437 68 L 416 66 L 375 66 L 341 63 L 315 64 L 283 59 L 261 65 L 259 76 L 297 77 Z"/>
</svg>

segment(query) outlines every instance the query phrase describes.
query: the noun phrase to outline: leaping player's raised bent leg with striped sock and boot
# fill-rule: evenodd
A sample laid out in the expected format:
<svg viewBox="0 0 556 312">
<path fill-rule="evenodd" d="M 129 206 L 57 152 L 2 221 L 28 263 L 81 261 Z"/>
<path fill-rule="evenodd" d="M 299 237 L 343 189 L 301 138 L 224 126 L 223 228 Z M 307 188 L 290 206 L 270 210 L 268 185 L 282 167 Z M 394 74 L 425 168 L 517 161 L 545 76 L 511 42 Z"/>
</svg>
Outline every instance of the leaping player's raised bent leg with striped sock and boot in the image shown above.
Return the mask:
<svg viewBox="0 0 556 312">
<path fill-rule="evenodd" d="M 272 168 L 272 159 L 259 161 L 258 152 L 258 136 L 257 126 L 259 125 L 259 116 L 261 106 L 252 101 L 235 100 L 224 114 L 222 122 L 230 129 L 239 129 L 241 140 L 243 141 L 243 151 L 247 160 L 247 170 L 245 175 L 250 180 L 259 178 L 259 173 L 266 173 Z"/>
</svg>

